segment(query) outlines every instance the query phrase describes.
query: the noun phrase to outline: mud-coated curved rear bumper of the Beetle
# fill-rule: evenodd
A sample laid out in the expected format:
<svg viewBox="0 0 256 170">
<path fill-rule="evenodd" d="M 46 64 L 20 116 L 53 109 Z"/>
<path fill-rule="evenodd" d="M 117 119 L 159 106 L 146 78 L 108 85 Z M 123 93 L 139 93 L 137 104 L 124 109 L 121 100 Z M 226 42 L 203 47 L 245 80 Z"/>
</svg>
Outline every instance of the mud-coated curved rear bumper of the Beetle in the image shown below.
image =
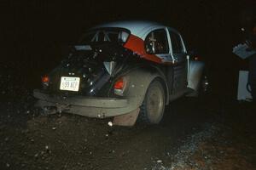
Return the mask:
<svg viewBox="0 0 256 170">
<path fill-rule="evenodd" d="M 33 96 L 39 99 L 36 104 L 38 107 L 54 106 L 58 111 L 65 111 L 81 116 L 104 118 L 124 115 L 137 109 L 134 105 L 129 105 L 128 99 L 84 96 L 66 97 L 56 94 L 46 94 L 38 89 L 33 91 Z"/>
</svg>

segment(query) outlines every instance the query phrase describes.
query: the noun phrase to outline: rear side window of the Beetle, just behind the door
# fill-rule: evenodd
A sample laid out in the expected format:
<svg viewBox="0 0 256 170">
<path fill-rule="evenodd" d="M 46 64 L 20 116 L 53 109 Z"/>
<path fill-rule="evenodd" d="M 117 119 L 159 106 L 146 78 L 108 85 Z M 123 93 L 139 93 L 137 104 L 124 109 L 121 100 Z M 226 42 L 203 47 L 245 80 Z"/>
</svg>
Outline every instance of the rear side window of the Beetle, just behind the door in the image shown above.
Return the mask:
<svg viewBox="0 0 256 170">
<path fill-rule="evenodd" d="M 151 31 L 145 39 L 145 49 L 148 54 L 168 54 L 166 30 Z"/>
</svg>

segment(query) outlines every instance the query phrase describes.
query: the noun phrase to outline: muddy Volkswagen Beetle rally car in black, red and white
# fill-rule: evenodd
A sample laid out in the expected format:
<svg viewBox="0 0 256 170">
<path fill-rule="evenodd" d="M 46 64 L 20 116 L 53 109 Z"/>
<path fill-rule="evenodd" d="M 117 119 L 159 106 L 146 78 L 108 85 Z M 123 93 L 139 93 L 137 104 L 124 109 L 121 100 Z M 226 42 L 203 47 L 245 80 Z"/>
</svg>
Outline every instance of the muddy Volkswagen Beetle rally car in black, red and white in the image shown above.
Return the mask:
<svg viewBox="0 0 256 170">
<path fill-rule="evenodd" d="M 84 32 L 68 56 L 42 77 L 37 106 L 81 116 L 113 117 L 117 125 L 159 123 L 165 105 L 196 96 L 208 82 L 172 27 L 119 21 Z"/>
</svg>

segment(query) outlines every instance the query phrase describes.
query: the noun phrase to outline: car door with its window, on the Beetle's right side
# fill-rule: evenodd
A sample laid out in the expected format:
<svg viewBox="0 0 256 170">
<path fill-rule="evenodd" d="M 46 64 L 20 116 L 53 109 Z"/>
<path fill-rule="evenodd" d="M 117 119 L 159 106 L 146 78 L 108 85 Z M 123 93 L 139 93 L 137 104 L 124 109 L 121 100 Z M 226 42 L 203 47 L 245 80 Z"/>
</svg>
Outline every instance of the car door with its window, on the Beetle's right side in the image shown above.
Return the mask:
<svg viewBox="0 0 256 170">
<path fill-rule="evenodd" d="M 172 94 L 177 94 L 183 92 L 187 87 L 187 54 L 180 34 L 171 28 L 168 31 L 171 39 L 172 58 L 174 59 Z"/>
</svg>

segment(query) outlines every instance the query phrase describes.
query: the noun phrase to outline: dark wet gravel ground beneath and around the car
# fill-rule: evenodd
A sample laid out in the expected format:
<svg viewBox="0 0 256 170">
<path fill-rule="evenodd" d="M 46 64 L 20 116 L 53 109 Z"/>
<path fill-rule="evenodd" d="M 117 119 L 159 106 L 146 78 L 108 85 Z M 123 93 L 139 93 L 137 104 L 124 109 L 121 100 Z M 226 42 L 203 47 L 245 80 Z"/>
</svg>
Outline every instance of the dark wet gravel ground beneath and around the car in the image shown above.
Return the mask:
<svg viewBox="0 0 256 170">
<path fill-rule="evenodd" d="M 22 97 L 21 97 L 22 96 Z M 157 126 L 40 115 L 24 91 L 0 105 L 0 169 L 256 169 L 250 104 L 179 99 Z"/>
</svg>

